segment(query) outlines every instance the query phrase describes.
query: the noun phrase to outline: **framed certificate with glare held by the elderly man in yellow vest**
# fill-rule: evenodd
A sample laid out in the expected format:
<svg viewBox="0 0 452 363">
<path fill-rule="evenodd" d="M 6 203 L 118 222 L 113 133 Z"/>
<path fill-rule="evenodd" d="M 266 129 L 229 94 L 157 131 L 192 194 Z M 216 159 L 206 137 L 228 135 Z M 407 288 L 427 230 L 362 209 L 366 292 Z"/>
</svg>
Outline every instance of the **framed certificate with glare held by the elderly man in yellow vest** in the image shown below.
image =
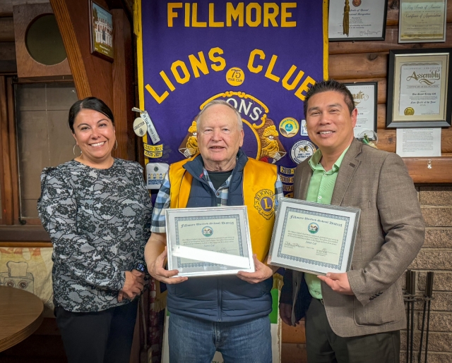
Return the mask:
<svg viewBox="0 0 452 363">
<path fill-rule="evenodd" d="M 254 272 L 246 206 L 166 209 L 168 269 L 177 276 Z"/>
</svg>

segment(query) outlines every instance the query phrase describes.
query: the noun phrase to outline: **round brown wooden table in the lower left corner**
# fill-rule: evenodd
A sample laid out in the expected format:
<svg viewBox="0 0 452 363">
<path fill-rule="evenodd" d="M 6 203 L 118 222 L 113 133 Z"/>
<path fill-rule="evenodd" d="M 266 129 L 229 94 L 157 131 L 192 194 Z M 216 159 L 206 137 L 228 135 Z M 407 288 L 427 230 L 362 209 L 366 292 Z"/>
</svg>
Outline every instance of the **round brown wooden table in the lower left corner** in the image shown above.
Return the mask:
<svg viewBox="0 0 452 363">
<path fill-rule="evenodd" d="M 20 343 L 42 323 L 44 304 L 18 288 L 0 286 L 0 352 Z"/>
</svg>

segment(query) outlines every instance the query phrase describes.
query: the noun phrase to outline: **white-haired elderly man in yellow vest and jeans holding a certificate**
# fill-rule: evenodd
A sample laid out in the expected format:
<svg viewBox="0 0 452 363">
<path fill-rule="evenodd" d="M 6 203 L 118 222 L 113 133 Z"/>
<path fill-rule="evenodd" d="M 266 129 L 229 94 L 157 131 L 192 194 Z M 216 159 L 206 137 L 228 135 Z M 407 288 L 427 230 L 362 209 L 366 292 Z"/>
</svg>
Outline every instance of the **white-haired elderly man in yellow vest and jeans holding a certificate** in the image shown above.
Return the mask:
<svg viewBox="0 0 452 363">
<path fill-rule="evenodd" d="M 150 274 L 168 284 L 169 361 L 207 363 L 218 350 L 225 362 L 271 362 L 268 314 L 277 268 L 263 261 L 283 185 L 276 166 L 248 159 L 240 148 L 242 118 L 233 106 L 211 101 L 196 119 L 200 154 L 169 166 L 145 247 Z M 248 207 L 256 272 L 186 278 L 165 270 L 166 208 L 237 205 Z"/>
</svg>

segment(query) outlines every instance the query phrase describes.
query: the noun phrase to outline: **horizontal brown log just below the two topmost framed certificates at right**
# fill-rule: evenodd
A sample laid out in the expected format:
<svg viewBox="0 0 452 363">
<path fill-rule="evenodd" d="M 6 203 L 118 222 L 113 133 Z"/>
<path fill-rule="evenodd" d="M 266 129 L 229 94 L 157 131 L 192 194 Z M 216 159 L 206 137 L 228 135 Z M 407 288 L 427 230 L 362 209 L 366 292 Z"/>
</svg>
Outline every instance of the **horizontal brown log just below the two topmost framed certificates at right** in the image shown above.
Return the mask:
<svg viewBox="0 0 452 363">
<path fill-rule="evenodd" d="M 452 23 L 446 25 L 446 42 L 401 43 L 398 42 L 398 25 L 386 27 L 386 37 L 381 42 L 331 42 L 329 54 L 381 52 L 394 49 L 430 49 L 452 47 Z"/>
</svg>

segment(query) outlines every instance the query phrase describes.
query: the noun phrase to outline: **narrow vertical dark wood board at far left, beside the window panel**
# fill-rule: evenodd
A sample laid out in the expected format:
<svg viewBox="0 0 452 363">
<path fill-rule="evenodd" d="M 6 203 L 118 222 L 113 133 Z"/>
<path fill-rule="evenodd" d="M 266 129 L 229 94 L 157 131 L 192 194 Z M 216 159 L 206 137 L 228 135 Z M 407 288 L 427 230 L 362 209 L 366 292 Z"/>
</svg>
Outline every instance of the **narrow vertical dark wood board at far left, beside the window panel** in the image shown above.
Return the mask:
<svg viewBox="0 0 452 363">
<path fill-rule="evenodd" d="M 14 109 L 14 89 L 12 77 L 6 78 L 6 101 L 8 102 L 9 160 L 11 162 L 11 188 L 13 190 L 13 224 L 19 224 L 19 168 L 17 157 L 16 113 Z"/>
</svg>

